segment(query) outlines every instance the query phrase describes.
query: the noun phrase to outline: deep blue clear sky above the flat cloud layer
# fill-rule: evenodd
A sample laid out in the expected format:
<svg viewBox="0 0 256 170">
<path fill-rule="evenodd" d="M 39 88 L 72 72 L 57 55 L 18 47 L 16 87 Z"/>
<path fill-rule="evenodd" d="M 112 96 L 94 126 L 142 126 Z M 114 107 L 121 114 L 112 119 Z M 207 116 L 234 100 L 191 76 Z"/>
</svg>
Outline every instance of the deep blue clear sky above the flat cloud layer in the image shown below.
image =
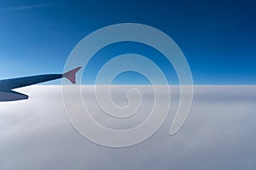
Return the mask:
<svg viewBox="0 0 256 170">
<path fill-rule="evenodd" d="M 255 6 L 253 1 L 1 1 L 0 78 L 61 72 L 68 54 L 90 32 L 134 22 L 177 42 L 195 84 L 255 84 Z M 125 53 L 130 45 L 117 47 L 108 54 Z M 156 62 L 166 66 L 163 59 Z M 89 72 L 93 77 L 96 68 Z"/>
</svg>

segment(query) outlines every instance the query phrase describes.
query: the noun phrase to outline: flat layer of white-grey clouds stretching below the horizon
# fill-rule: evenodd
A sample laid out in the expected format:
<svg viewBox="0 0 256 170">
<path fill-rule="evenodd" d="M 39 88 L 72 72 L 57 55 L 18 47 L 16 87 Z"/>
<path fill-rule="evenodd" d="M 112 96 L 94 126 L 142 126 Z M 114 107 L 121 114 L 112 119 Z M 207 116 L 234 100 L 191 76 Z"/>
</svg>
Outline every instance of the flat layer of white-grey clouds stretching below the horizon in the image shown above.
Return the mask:
<svg viewBox="0 0 256 170">
<path fill-rule="evenodd" d="M 256 168 L 253 86 L 196 87 L 187 122 L 176 135 L 169 136 L 177 108 L 174 92 L 174 105 L 163 126 L 142 144 L 121 149 L 94 144 L 75 131 L 68 122 L 60 87 L 34 86 L 17 91 L 32 98 L 0 103 L 1 170 Z M 115 101 L 125 102 L 120 91 L 114 95 Z M 143 101 L 148 103 L 144 105 L 151 105 L 151 94 L 146 96 Z M 96 106 L 93 103 L 92 108 Z M 95 110 L 97 120 L 114 124 L 99 111 Z M 125 127 L 144 117 L 125 122 Z"/>
</svg>

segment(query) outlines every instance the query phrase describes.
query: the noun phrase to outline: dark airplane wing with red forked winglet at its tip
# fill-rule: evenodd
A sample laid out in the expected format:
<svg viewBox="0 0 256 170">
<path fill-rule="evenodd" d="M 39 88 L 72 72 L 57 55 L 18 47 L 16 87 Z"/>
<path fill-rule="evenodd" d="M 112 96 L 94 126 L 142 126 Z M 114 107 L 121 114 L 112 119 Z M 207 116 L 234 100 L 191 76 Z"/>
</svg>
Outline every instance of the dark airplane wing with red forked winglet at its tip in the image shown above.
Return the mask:
<svg viewBox="0 0 256 170">
<path fill-rule="evenodd" d="M 11 78 L 0 81 L 0 101 L 14 101 L 20 99 L 28 99 L 26 94 L 20 94 L 13 91 L 15 88 L 22 88 L 30 86 L 32 84 L 38 84 L 40 82 L 48 82 L 51 80 L 59 79 L 62 77 L 67 78 L 70 82 L 76 83 L 75 74 L 82 67 L 73 69 L 72 71 L 67 71 L 64 74 L 47 74 L 47 75 L 38 75 L 32 77 L 19 77 Z"/>
</svg>

